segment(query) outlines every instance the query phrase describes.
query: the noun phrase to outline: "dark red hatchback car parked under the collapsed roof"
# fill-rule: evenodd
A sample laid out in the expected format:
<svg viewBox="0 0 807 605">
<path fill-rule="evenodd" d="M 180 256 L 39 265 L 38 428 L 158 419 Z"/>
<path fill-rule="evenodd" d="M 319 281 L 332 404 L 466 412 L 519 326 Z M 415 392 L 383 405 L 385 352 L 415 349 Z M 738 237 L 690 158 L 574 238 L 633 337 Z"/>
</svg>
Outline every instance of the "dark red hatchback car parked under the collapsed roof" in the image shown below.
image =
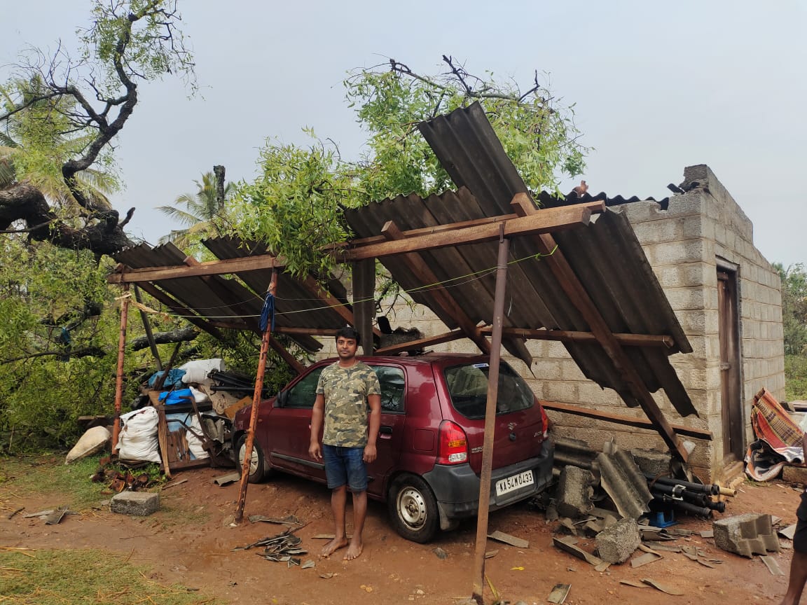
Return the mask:
<svg viewBox="0 0 807 605">
<path fill-rule="evenodd" d="M 387 502 L 399 534 L 427 542 L 476 515 L 482 467 L 488 358 L 430 353 L 421 357 L 360 357 L 381 384 L 378 457 L 367 466 L 370 498 Z M 308 456 L 311 414 L 322 369 L 312 365 L 261 403 L 249 481 L 270 472 L 325 482 L 324 465 Z M 235 418 L 238 461 L 252 407 Z M 504 361 L 499 371 L 489 510 L 538 494 L 551 481 L 554 447 L 549 419 L 524 380 Z"/>
</svg>

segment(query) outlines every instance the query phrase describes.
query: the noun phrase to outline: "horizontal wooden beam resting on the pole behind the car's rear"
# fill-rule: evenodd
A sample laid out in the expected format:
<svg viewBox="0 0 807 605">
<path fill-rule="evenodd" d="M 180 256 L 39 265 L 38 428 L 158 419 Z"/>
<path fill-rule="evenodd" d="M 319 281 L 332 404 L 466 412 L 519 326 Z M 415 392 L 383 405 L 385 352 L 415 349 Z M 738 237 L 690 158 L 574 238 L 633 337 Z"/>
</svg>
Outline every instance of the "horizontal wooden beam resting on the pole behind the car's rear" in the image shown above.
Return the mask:
<svg viewBox="0 0 807 605">
<path fill-rule="evenodd" d="M 592 215 L 592 205 L 604 211 L 605 202 L 579 204 L 535 211 L 533 215 L 525 215 L 518 219 L 504 221 L 504 237 L 526 236 L 536 233 L 561 231 L 587 225 Z M 534 209 L 533 209 L 534 210 Z M 389 257 L 395 254 L 433 250 L 447 246 L 477 244 L 483 241 L 499 239 L 501 221 L 487 223 L 475 227 L 462 227 L 452 231 L 429 233 L 427 235 L 406 237 L 397 227 L 394 238 L 383 244 L 368 244 L 358 248 L 349 248 L 341 252 L 343 261 L 358 261 L 362 258 Z M 386 236 L 389 223 L 382 228 Z"/>
</svg>

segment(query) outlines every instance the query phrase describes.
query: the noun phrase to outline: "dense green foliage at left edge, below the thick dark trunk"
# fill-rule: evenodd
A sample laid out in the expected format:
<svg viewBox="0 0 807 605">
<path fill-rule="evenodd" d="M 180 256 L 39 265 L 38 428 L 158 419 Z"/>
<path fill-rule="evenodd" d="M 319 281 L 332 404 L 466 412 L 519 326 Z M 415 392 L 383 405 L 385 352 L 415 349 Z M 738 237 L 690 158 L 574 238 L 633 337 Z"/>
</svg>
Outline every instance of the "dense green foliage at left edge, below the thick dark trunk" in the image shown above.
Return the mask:
<svg viewBox="0 0 807 605">
<path fill-rule="evenodd" d="M 80 415 L 115 400 L 119 311 L 111 261 L 91 252 L 0 239 L 0 447 L 72 445 Z M 129 355 L 131 367 L 141 360 Z"/>
</svg>

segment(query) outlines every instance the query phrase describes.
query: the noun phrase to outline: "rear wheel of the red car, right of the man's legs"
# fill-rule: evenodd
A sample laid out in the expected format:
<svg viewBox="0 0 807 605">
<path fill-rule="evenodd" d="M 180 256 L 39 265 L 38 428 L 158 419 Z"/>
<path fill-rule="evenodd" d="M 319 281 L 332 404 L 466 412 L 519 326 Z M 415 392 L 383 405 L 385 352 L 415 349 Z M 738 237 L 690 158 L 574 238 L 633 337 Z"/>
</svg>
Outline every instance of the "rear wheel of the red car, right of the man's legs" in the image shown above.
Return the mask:
<svg viewBox="0 0 807 605">
<path fill-rule="evenodd" d="M 390 486 L 387 507 L 395 531 L 424 544 L 440 527 L 440 511 L 429 484 L 417 475 L 403 474 Z"/>
</svg>

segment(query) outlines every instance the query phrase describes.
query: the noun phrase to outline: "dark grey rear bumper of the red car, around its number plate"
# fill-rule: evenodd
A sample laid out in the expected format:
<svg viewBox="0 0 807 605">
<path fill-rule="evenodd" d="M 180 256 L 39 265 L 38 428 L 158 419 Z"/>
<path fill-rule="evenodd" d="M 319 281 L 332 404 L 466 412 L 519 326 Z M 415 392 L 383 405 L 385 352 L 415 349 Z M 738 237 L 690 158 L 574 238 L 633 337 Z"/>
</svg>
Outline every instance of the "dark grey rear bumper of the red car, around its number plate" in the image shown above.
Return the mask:
<svg viewBox="0 0 807 605">
<path fill-rule="evenodd" d="M 554 444 L 546 439 L 541 447 L 541 455 L 514 465 L 495 469 L 491 473 L 491 492 L 488 510 L 495 511 L 541 493 L 552 480 Z M 507 494 L 496 495 L 495 485 L 500 479 L 514 477 L 527 470 L 533 471 L 533 484 L 512 490 Z M 435 465 L 423 475 L 434 492 L 441 516 L 446 519 L 462 519 L 476 515 L 479 510 L 479 476 L 470 465 Z"/>
</svg>

